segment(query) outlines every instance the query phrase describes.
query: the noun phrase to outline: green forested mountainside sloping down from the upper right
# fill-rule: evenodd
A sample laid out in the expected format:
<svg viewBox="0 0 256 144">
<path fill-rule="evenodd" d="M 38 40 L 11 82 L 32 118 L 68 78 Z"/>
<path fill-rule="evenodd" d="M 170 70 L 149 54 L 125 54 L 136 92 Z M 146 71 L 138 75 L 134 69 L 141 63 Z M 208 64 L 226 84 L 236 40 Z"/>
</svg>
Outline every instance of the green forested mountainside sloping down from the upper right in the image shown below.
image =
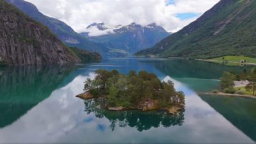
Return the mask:
<svg viewBox="0 0 256 144">
<path fill-rule="evenodd" d="M 256 57 L 255 29 L 255 0 L 221 0 L 195 22 L 135 56 Z"/>
</svg>

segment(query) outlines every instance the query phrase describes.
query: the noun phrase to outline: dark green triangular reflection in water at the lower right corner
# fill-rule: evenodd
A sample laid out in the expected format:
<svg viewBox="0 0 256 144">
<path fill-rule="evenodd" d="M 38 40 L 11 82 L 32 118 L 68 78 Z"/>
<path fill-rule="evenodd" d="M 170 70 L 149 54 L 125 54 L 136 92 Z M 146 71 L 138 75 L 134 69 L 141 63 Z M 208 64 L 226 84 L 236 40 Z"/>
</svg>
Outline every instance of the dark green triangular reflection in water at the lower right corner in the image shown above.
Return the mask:
<svg viewBox="0 0 256 144">
<path fill-rule="evenodd" d="M 200 95 L 200 97 L 237 129 L 256 141 L 256 100 L 218 95 Z"/>
</svg>

